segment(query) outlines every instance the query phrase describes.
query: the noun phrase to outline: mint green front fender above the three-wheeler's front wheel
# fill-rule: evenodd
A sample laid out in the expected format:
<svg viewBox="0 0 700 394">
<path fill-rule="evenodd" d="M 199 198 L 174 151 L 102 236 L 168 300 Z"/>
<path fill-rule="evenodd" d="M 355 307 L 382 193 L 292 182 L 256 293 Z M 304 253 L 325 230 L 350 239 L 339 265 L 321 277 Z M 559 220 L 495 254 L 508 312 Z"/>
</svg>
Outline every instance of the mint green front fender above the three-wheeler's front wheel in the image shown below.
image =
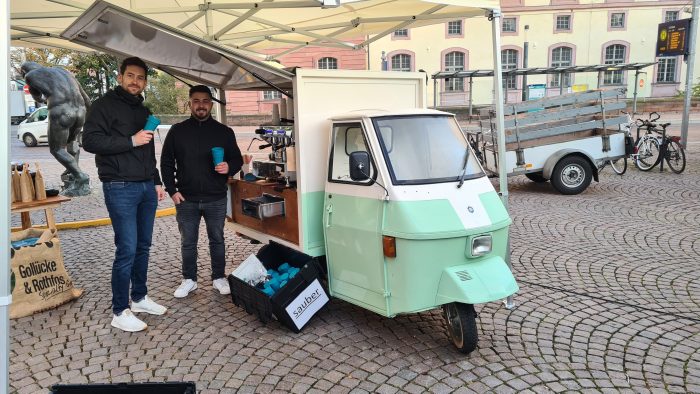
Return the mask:
<svg viewBox="0 0 700 394">
<path fill-rule="evenodd" d="M 518 291 L 513 273 L 499 256 L 445 268 L 436 305 L 450 302 L 481 304 L 506 298 Z"/>
</svg>

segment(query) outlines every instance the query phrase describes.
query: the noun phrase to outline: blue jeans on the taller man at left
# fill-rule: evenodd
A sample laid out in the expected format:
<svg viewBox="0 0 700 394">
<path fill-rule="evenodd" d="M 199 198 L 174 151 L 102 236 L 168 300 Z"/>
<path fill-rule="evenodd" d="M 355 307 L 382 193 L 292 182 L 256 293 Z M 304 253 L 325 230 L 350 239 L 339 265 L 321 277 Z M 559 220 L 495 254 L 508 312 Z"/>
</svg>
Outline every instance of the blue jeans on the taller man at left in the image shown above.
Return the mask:
<svg viewBox="0 0 700 394">
<path fill-rule="evenodd" d="M 158 197 L 153 181 L 104 182 L 102 190 L 117 249 L 112 264 L 112 311 L 119 315 L 129 308 L 129 283 L 133 301 L 141 301 L 148 293 L 148 252 Z"/>
</svg>

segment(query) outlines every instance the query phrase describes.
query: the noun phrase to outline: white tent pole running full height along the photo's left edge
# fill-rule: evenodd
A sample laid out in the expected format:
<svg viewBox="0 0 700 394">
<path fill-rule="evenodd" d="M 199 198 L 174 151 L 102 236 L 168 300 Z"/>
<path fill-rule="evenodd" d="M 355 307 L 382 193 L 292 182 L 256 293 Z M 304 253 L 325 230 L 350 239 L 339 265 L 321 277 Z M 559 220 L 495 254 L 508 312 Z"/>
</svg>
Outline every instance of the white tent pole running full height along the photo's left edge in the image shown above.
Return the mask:
<svg viewBox="0 0 700 394">
<path fill-rule="evenodd" d="M 10 64 L 10 2 L 0 7 L 0 20 L 5 21 L 2 28 L 2 43 L 0 44 L 0 61 Z M 0 67 L 0 81 L 10 80 L 9 67 Z M 7 85 L 5 85 L 7 86 Z M 0 94 L 0 127 L 5 136 L 5 143 L 0 144 L 0 163 L 5 163 L 5 170 L 0 171 L 0 185 L 5 185 L 0 192 L 0 222 L 8 225 L 0 226 L 0 392 L 10 391 L 10 311 L 12 293 L 10 292 L 10 92 L 8 89 Z"/>
</svg>

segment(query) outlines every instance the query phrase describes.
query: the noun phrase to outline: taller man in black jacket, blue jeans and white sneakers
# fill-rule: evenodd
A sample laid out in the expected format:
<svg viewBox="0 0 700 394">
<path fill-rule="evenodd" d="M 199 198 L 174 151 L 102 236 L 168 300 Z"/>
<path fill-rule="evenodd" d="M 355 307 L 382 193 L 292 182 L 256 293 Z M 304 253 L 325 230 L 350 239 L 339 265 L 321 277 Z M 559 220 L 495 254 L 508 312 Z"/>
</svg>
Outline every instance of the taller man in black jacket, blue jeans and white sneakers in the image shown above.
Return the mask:
<svg viewBox="0 0 700 394">
<path fill-rule="evenodd" d="M 95 101 L 83 126 L 83 148 L 95 154 L 114 229 L 112 326 L 131 332 L 147 327 L 132 312 L 162 315 L 167 310 L 146 295 L 153 222 L 158 200 L 165 198 L 153 133 L 143 130 L 149 115 L 141 96 L 147 74 L 143 60 L 125 59 L 117 76 L 119 86 Z"/>
</svg>

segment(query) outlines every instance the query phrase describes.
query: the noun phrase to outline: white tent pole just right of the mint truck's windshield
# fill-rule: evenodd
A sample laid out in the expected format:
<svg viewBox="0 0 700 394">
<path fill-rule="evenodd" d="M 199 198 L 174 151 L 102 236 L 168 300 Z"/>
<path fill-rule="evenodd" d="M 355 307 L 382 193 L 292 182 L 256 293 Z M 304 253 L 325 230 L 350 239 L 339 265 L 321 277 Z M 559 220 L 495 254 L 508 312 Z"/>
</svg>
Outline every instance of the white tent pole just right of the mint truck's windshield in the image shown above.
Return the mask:
<svg viewBox="0 0 700 394">
<path fill-rule="evenodd" d="M 491 14 L 491 31 L 493 34 L 493 103 L 496 108 L 496 135 L 498 136 L 498 190 L 501 201 L 508 210 L 508 172 L 506 171 L 506 134 L 503 121 L 503 67 L 501 65 L 501 10 Z M 510 231 L 510 230 L 509 230 Z M 506 264 L 513 271 L 510 263 L 510 234 L 506 246 Z M 506 298 L 506 308 L 515 307 L 513 296 Z"/>
</svg>

